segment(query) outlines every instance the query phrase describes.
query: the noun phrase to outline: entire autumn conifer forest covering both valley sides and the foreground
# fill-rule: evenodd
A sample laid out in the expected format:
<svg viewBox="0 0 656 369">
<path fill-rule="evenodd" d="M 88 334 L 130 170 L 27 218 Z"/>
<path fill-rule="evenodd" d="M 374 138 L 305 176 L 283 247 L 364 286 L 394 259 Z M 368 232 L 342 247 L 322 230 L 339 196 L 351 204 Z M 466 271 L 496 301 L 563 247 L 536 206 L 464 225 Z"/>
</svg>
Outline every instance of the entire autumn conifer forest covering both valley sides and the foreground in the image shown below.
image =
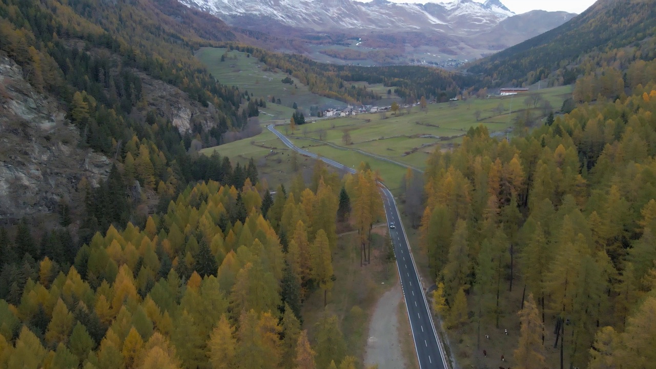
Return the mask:
<svg viewBox="0 0 656 369">
<path fill-rule="evenodd" d="M 200 47 L 252 54 L 349 103 L 378 97 L 346 81 L 411 102 L 572 84 L 539 126 L 509 141 L 472 127 L 428 156 L 414 251 L 461 367 L 484 367 L 487 334 L 509 330 L 501 355 L 513 368 L 653 368 L 655 9 L 600 0 L 459 73 L 272 53 L 247 45 L 266 35 L 175 0 L 3 0 L 0 53 L 111 169 L 76 183 L 57 225 L 0 227 L 0 369 L 363 368 L 336 316 L 308 337 L 302 306 L 310 293 L 331 298 L 338 222 L 358 231 L 361 265 L 371 257 L 384 217 L 377 173 L 363 163 L 340 177 L 317 162 L 308 181 L 271 191 L 254 160 L 197 154 L 241 137 L 266 104 L 211 76 Z M 144 76 L 183 91 L 212 123 L 178 129 L 148 108 Z"/>
</svg>

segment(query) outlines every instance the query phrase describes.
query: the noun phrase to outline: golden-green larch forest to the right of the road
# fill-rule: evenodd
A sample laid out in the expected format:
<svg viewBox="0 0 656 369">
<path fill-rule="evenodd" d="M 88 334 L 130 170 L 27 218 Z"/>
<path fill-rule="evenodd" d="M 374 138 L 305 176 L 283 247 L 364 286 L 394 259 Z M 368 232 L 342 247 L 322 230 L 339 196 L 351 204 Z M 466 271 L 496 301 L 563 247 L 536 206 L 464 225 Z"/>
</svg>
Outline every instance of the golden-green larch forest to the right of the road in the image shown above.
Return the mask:
<svg viewBox="0 0 656 369">
<path fill-rule="evenodd" d="M 420 244 L 464 360 L 503 328 L 512 367 L 653 367 L 655 67 L 588 74 L 569 114 L 510 142 L 472 128 L 428 159 Z"/>
</svg>

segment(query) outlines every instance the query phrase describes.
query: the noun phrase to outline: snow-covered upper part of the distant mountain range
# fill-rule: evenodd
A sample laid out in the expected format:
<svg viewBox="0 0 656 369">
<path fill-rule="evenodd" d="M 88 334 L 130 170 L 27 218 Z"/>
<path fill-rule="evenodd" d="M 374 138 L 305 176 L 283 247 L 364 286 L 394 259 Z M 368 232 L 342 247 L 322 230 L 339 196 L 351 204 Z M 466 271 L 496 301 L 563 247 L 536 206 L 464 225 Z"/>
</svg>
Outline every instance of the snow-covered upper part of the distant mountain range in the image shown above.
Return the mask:
<svg viewBox="0 0 656 369">
<path fill-rule="evenodd" d="M 481 0 L 479 0 L 481 1 Z M 500 0 L 401 4 L 386 0 L 180 0 L 228 24 L 268 28 L 280 24 L 319 32 L 344 30 L 476 32 L 513 16 Z M 260 26 L 258 26 L 258 24 Z M 264 27 L 261 27 L 264 26 Z"/>
</svg>

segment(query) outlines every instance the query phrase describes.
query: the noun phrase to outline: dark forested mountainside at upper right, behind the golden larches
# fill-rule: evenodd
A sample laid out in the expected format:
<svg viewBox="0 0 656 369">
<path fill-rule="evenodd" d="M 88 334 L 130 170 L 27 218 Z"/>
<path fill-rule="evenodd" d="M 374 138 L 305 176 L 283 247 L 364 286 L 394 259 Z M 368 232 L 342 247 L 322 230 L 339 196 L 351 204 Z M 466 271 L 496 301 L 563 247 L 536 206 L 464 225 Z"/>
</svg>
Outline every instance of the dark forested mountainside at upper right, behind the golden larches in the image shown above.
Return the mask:
<svg viewBox="0 0 656 369">
<path fill-rule="evenodd" d="M 599 0 L 562 26 L 477 61 L 468 72 L 497 85 L 531 84 L 584 54 L 631 45 L 655 34 L 656 1 Z M 574 77 L 565 79 L 571 83 Z"/>
</svg>

